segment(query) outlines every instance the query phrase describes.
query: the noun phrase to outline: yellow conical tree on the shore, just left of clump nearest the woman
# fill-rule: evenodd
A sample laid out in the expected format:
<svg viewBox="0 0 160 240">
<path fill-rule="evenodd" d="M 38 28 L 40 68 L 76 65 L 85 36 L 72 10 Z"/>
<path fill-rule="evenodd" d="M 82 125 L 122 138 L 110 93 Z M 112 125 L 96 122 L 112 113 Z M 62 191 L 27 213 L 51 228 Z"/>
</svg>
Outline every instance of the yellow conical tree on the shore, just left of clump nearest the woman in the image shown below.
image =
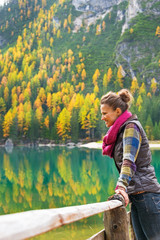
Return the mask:
<svg viewBox="0 0 160 240">
<path fill-rule="evenodd" d="M 66 109 L 63 108 L 63 110 L 60 112 L 58 118 L 57 118 L 57 133 L 62 138 L 63 141 L 65 141 L 67 138 L 70 138 L 69 133 L 71 130 L 71 124 L 70 124 L 71 114 Z"/>
</svg>

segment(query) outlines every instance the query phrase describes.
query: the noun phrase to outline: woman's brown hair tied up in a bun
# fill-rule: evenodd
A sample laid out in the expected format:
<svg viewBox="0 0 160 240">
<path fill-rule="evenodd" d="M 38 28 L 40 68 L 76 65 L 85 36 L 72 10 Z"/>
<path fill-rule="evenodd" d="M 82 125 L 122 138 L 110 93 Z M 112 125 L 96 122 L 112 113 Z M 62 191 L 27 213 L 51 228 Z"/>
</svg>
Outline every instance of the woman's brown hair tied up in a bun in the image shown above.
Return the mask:
<svg viewBox="0 0 160 240">
<path fill-rule="evenodd" d="M 112 107 L 113 110 L 120 108 L 122 112 L 129 109 L 133 100 L 133 96 L 128 89 L 121 89 L 118 93 L 108 92 L 101 98 L 101 105 L 107 104 Z"/>
</svg>

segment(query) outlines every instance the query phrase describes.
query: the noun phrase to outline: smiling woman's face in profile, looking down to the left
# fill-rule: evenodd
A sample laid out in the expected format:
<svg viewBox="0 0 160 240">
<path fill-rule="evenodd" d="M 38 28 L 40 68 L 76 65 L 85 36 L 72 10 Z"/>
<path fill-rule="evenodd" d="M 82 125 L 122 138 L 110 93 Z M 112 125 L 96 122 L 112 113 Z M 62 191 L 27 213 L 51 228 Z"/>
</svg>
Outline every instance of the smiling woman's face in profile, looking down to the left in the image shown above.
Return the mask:
<svg viewBox="0 0 160 240">
<path fill-rule="evenodd" d="M 122 110 L 120 108 L 116 108 L 116 110 L 113 110 L 113 108 L 109 105 L 102 104 L 101 114 L 101 120 L 105 121 L 106 127 L 111 127 L 116 121 L 116 119 L 122 114 Z"/>
</svg>

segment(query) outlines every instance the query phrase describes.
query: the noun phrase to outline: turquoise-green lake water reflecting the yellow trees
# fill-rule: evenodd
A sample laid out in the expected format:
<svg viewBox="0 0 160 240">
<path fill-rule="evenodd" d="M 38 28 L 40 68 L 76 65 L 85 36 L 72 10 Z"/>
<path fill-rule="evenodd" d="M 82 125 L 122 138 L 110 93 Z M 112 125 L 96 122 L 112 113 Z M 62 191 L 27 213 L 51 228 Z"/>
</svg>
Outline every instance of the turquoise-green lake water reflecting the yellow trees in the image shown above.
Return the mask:
<svg viewBox="0 0 160 240">
<path fill-rule="evenodd" d="M 152 151 L 160 182 L 160 150 Z M 118 172 L 99 149 L 0 148 L 0 214 L 106 201 L 114 193 Z M 84 240 L 103 229 L 99 214 L 34 240 Z"/>
</svg>

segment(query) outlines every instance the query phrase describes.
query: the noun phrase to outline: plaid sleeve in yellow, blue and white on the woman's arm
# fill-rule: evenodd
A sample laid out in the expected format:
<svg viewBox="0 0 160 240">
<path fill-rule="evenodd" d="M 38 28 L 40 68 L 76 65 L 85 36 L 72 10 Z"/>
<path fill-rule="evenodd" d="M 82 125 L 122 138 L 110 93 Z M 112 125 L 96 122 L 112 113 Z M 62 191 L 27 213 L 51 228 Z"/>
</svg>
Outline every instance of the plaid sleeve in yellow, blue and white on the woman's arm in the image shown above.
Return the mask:
<svg viewBox="0 0 160 240">
<path fill-rule="evenodd" d="M 127 188 L 136 171 L 136 159 L 141 146 L 142 137 L 139 128 L 129 123 L 123 134 L 123 164 L 118 178 L 116 189 L 121 186 Z"/>
</svg>

